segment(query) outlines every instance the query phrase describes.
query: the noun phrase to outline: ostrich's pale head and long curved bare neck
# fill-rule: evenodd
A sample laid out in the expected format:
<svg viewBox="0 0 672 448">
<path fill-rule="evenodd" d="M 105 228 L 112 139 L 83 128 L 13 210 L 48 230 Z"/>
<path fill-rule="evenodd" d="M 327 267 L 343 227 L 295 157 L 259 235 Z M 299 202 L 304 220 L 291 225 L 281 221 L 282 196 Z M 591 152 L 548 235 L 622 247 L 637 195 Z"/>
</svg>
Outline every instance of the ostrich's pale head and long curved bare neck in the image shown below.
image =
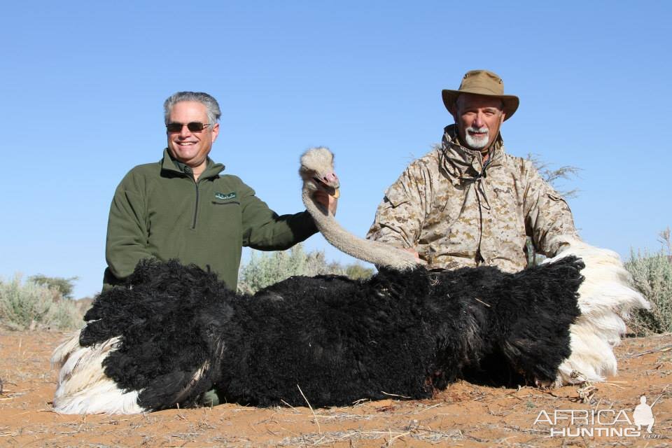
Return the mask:
<svg viewBox="0 0 672 448">
<path fill-rule="evenodd" d="M 315 225 L 329 243 L 339 251 L 377 266 L 404 270 L 419 264 L 411 253 L 398 248 L 355 237 L 344 230 L 321 204 L 314 200 L 314 193 L 323 190 L 332 196 L 339 195 L 339 181 L 334 173 L 334 155 L 328 148 L 311 148 L 301 156 L 299 175 L 303 179 L 303 203 Z"/>
</svg>

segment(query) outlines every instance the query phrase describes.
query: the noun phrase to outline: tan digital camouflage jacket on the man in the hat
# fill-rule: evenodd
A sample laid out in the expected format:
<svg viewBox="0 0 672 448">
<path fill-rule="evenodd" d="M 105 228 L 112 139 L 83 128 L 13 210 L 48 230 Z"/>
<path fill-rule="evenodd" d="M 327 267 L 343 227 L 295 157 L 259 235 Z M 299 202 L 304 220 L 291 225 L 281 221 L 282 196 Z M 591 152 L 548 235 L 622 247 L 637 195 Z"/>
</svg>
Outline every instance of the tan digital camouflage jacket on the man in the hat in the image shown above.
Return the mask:
<svg viewBox="0 0 672 448">
<path fill-rule="evenodd" d="M 553 237 L 577 237 L 565 200 L 530 161 L 505 153 L 501 137 L 483 167 L 479 151 L 459 144 L 454 125 L 444 131 L 442 145 L 388 188 L 367 238 L 414 248 L 430 267 L 517 272 L 527 264 L 527 236 L 548 256 L 559 249 Z"/>
</svg>

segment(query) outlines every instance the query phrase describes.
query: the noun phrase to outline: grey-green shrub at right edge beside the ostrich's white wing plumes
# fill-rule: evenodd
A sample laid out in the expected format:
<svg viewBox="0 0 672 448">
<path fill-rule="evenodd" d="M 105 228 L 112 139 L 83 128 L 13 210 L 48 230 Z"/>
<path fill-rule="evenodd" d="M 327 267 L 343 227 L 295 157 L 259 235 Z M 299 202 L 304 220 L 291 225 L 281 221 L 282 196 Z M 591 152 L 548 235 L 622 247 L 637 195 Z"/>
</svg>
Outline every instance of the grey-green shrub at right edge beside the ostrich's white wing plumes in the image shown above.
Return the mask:
<svg viewBox="0 0 672 448">
<path fill-rule="evenodd" d="M 638 310 L 629 323 L 638 335 L 672 331 L 672 262 L 662 251 L 650 255 L 631 251 L 625 263 L 636 288 L 651 303 L 650 311 Z"/>
</svg>

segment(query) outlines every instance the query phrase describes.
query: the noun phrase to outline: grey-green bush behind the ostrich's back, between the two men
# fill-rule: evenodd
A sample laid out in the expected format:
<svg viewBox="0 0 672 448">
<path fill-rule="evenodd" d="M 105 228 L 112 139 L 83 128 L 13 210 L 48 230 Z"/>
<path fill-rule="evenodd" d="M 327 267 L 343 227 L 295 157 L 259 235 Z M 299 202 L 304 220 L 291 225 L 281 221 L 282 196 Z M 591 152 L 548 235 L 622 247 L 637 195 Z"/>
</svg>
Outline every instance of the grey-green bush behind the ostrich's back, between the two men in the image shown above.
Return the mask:
<svg viewBox="0 0 672 448">
<path fill-rule="evenodd" d="M 323 251 L 306 252 L 303 244 L 297 244 L 289 251 L 261 254 L 253 251 L 250 260 L 240 267 L 238 290 L 253 294 L 295 275 L 335 274 L 352 279 L 367 279 L 373 273 L 374 269 L 357 263 L 344 267 L 338 262 L 328 262 Z"/>
</svg>

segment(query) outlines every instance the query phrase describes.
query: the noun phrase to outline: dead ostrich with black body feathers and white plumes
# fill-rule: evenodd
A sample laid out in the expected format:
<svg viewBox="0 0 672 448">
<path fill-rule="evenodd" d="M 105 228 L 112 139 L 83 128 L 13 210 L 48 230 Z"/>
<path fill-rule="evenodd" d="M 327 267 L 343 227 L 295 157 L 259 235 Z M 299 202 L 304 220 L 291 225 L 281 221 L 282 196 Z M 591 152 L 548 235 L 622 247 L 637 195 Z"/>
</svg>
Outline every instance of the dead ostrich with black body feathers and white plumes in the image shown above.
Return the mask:
<svg viewBox="0 0 672 448">
<path fill-rule="evenodd" d="M 516 274 L 430 271 L 353 237 L 313 202 L 316 189 L 337 192 L 332 163 L 326 148 L 302 155 L 304 204 L 330 244 L 377 265 L 376 275 L 295 276 L 251 296 L 199 267 L 143 260 L 55 350 L 55 410 L 193 407 L 213 387 L 258 406 L 427 398 L 491 356 L 505 364 L 497 370 L 540 385 L 615 372 L 621 316 L 646 304 L 613 254 L 567 240 L 556 258 Z"/>
</svg>

